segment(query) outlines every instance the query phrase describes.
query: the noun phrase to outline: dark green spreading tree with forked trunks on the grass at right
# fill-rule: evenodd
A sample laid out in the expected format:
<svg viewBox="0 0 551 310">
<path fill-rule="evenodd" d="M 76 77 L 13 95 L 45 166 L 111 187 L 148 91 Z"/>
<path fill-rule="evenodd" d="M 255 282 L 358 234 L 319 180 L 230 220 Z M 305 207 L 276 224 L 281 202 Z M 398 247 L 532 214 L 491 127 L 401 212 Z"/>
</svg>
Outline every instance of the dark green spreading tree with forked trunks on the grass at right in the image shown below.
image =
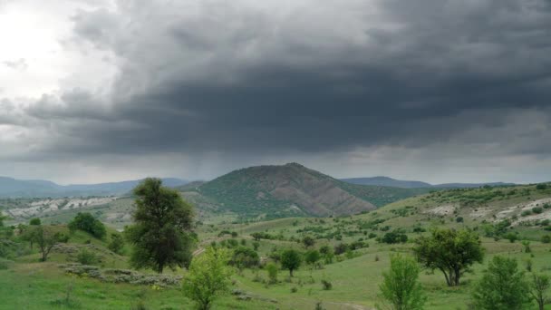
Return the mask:
<svg viewBox="0 0 551 310">
<path fill-rule="evenodd" d="M 469 267 L 484 258 L 480 238 L 469 229 L 433 229 L 430 237 L 416 240 L 413 251 L 422 266 L 439 269 L 448 286 L 459 286 Z"/>
</svg>

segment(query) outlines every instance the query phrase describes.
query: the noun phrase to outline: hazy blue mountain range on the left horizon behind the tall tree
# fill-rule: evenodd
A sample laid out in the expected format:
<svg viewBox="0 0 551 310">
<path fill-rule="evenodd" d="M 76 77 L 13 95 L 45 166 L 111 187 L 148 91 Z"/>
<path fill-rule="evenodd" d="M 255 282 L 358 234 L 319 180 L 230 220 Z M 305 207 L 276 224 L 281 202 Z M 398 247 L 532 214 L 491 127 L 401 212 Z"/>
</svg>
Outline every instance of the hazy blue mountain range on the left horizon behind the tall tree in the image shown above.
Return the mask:
<svg viewBox="0 0 551 310">
<path fill-rule="evenodd" d="M 165 178 L 164 185 L 178 187 L 187 184 L 183 179 Z M 141 179 L 99 184 L 59 185 L 43 179 L 13 179 L 0 177 L 0 197 L 45 198 L 76 196 L 111 196 L 128 193 Z"/>
</svg>

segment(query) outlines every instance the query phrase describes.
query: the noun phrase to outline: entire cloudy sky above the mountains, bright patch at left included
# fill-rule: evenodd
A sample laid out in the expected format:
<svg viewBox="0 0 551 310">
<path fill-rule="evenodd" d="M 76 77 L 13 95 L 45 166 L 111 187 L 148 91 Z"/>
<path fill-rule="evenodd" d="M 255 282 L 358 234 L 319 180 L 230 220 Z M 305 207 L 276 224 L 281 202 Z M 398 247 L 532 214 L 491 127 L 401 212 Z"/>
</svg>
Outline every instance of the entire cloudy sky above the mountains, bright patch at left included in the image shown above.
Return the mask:
<svg viewBox="0 0 551 310">
<path fill-rule="evenodd" d="M 551 180 L 549 0 L 0 0 L 0 175 Z"/>
</svg>

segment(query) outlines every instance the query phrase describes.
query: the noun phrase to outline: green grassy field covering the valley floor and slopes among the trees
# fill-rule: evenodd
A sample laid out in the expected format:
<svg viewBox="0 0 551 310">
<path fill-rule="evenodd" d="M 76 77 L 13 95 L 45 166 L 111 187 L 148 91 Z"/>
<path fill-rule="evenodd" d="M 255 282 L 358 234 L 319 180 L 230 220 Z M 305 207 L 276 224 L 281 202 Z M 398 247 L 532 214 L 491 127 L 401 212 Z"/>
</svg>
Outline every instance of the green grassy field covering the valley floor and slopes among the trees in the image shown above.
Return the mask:
<svg viewBox="0 0 551 310">
<path fill-rule="evenodd" d="M 213 308 L 315 309 L 316 305 L 321 305 L 324 309 L 372 309 L 379 302 L 378 287 L 382 283 L 382 272 L 389 268 L 392 254 L 411 255 L 413 240 L 428 234 L 430 228 L 471 228 L 482 236 L 486 257 L 484 264 L 475 265 L 473 273 L 462 278 L 461 286 L 446 286 L 444 277 L 438 271 L 434 274 L 423 271 L 420 276 L 428 295 L 426 309 L 469 309 L 473 285 L 488 260 L 495 255 L 516 258 L 521 269 L 525 269 L 529 260 L 533 271 L 550 273 L 551 244 L 542 243 L 540 239 L 551 232 L 548 225 L 542 224 L 543 219 L 508 226 L 506 233 L 517 236 L 515 242 L 510 242 L 506 237 L 485 237 L 487 228 L 495 227 L 502 220 L 494 216 L 507 208 L 514 210 L 508 213 L 511 223 L 514 223 L 512 218 L 515 217 L 543 215 L 541 217 L 545 218 L 548 208 L 541 214 L 521 216 L 523 208 L 511 206 L 525 206 L 547 198 L 551 198 L 549 189 L 536 190 L 534 186 L 455 189 L 404 199 L 370 213 L 343 218 L 280 218 L 232 224 L 233 219 L 220 215 L 198 224 L 198 247 L 207 247 L 213 241 L 218 247 L 231 247 L 232 243 L 253 247 L 251 234 L 261 232 L 270 238 L 258 241 L 258 253 L 264 260 L 269 260 L 275 248 L 293 247 L 304 251 L 304 246 L 299 242 L 304 236 L 314 237 L 314 247 L 318 248 L 362 242 L 362 247 L 335 257 L 331 264 L 320 268 L 301 266 L 293 278 L 288 277 L 287 271 L 280 270 L 278 283 L 272 285 L 267 284 L 266 270 L 262 268 L 236 271 L 232 276 L 232 289 L 241 293 L 220 297 Z M 449 209 L 449 213 L 434 213 L 435 209 L 441 210 L 441 206 L 449 205 L 453 208 L 444 208 Z M 128 208 L 128 205 L 121 205 L 120 208 Z M 480 209 L 484 209 L 483 216 L 480 216 Z M 458 221 L 458 218 L 462 220 Z M 119 227 L 113 225 L 113 228 Z M 65 228 L 59 226 L 59 229 Z M 405 233 L 408 242 L 380 242 L 384 234 L 392 231 Z M 227 232 L 235 232 L 237 237 L 231 237 Z M 232 239 L 235 241 L 228 241 Z M 74 234 L 67 246 L 84 247 L 88 240 L 104 249 L 99 252 L 103 257 L 99 266 L 128 268 L 127 256 L 110 254 L 105 249 L 105 241 L 86 233 Z M 530 241 L 531 253 L 525 252 L 521 240 Z M 5 269 L 0 270 L 0 309 L 131 309 L 139 302 L 148 309 L 189 309 L 193 305 L 178 286 L 157 289 L 154 286 L 103 283 L 86 276 L 67 275 L 58 264 L 73 261 L 70 255 L 54 252 L 48 262 L 38 263 L 36 249 L 30 250 L 26 244 L 24 247 L 19 255 L 4 264 Z M 127 246 L 125 253 L 129 252 L 130 247 Z M 153 274 L 150 270 L 141 272 Z M 186 276 L 184 269 L 168 273 Z M 325 290 L 322 280 L 330 282 L 332 288 Z M 546 309 L 551 309 L 551 305 L 547 305 Z"/>
</svg>

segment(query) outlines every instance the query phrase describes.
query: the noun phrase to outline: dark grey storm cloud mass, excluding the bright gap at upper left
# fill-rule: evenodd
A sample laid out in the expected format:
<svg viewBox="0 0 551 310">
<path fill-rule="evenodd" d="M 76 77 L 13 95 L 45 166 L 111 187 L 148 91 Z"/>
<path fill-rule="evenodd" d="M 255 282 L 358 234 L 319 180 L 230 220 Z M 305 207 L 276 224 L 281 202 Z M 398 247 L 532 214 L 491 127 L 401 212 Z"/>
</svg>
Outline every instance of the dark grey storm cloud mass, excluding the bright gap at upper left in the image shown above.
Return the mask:
<svg viewBox="0 0 551 310">
<path fill-rule="evenodd" d="M 111 51 L 120 75 L 110 104 L 72 91 L 28 110 L 62 120 L 50 150 L 323 152 L 454 140 L 551 152 L 538 142 L 551 130 L 548 1 L 328 2 L 333 11 L 285 15 L 244 3 L 180 15 L 185 5 L 125 2 L 118 13 L 76 15 L 74 40 Z"/>
</svg>

